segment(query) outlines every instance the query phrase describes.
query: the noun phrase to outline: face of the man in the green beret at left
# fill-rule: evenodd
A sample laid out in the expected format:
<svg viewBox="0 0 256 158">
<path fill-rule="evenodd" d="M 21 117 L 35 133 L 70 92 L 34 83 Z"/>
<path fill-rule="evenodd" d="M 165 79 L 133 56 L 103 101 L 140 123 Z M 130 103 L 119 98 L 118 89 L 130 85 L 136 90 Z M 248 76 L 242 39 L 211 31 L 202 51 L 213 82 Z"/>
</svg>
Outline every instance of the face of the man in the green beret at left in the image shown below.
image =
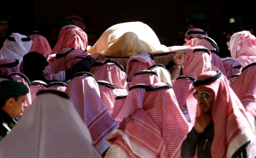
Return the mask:
<svg viewBox="0 0 256 158">
<path fill-rule="evenodd" d="M 22 113 L 24 112 L 24 106 L 27 106 L 26 102 L 26 95 L 25 96 L 19 96 L 18 100 L 13 100 L 13 106 L 12 106 L 12 116 L 11 117 L 19 117 L 22 116 Z"/>
</svg>

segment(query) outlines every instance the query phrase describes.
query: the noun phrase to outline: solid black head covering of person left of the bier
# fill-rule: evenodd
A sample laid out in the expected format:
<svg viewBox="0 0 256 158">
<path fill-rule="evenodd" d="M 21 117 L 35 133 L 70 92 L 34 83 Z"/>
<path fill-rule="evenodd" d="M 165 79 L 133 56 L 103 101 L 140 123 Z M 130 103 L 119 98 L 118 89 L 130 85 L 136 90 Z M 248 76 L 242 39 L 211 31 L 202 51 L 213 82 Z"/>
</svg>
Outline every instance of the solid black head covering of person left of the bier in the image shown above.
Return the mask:
<svg viewBox="0 0 256 158">
<path fill-rule="evenodd" d="M 44 68 L 48 65 L 46 57 L 38 52 L 27 53 L 23 57 L 23 70 L 31 81 L 41 80 Z"/>
</svg>

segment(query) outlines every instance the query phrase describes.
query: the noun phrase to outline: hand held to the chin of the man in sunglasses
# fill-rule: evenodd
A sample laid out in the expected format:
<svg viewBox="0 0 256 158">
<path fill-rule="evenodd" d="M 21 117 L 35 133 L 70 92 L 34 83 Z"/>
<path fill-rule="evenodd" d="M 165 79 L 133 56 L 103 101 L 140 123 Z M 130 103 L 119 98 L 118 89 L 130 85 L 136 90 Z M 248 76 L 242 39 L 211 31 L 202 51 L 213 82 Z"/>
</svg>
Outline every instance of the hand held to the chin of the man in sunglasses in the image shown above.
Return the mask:
<svg viewBox="0 0 256 158">
<path fill-rule="evenodd" d="M 196 133 L 203 133 L 210 121 L 212 121 L 212 117 L 209 114 L 201 114 L 200 116 L 197 116 L 194 126 Z"/>
</svg>

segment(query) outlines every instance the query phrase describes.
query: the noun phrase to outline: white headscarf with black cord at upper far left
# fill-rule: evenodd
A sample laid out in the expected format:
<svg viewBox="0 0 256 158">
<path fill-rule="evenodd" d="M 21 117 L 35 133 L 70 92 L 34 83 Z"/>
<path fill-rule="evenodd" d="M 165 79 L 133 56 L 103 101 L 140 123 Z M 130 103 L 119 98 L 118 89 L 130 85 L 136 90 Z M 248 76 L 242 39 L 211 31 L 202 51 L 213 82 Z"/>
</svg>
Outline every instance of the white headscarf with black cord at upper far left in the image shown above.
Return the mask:
<svg viewBox="0 0 256 158">
<path fill-rule="evenodd" d="M 0 59 L 13 58 L 21 62 L 22 57 L 30 52 L 32 42 L 27 36 L 11 33 L 11 36 L 5 40 L 0 50 Z"/>
</svg>

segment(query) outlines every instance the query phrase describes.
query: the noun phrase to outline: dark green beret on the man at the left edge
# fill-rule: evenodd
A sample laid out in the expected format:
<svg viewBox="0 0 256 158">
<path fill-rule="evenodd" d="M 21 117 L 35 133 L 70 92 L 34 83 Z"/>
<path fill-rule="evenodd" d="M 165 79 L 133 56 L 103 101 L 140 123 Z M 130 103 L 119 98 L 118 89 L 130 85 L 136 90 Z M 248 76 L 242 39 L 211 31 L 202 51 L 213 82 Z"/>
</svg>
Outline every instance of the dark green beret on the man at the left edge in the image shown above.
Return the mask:
<svg viewBox="0 0 256 158">
<path fill-rule="evenodd" d="M 28 88 L 16 80 L 4 80 L 0 82 L 0 94 L 10 96 L 24 96 L 28 93 Z"/>
</svg>

